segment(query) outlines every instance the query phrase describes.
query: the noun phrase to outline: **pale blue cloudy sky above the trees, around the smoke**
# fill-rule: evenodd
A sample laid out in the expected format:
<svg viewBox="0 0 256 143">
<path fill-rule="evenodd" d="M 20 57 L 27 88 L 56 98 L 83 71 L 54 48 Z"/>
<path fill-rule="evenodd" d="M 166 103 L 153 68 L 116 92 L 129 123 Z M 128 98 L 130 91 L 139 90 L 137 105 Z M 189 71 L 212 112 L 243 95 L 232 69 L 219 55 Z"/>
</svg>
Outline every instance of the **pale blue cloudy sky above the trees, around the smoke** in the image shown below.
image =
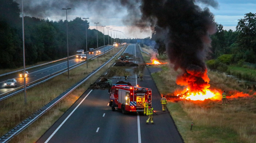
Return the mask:
<svg viewBox="0 0 256 143">
<path fill-rule="evenodd" d="M 16 0 L 16 1 L 20 3 L 19 2 L 20 0 Z M 43 14 L 38 12 L 40 11 L 40 8 L 43 8 L 43 7 L 39 7 L 38 9 L 36 9 L 37 13 L 34 13 L 34 12 L 29 13 L 26 11 L 26 1 L 29 1 L 29 0 L 23 1 L 25 2 L 24 14 L 27 16 L 48 18 L 49 20 L 53 20 L 53 21 L 66 19 L 65 10 L 61 10 L 61 8 L 58 6 L 55 6 L 55 9 L 48 8 L 47 10 L 44 10 Z M 33 0 L 27 6 L 31 7 L 31 5 L 35 5 L 34 7 L 37 8 L 37 6 L 45 4 L 43 2 L 46 2 L 46 1 L 47 0 L 41 0 L 41 1 Z M 85 0 L 85 1 L 90 1 L 90 0 Z M 229 30 L 229 29 L 235 30 L 238 19 L 243 18 L 244 14 L 249 12 L 256 13 L 256 0 L 216 0 L 216 1 L 219 3 L 218 8 L 216 9 L 212 7 L 209 7 L 209 8 L 210 8 L 210 11 L 215 15 L 215 21 L 217 23 L 222 24 L 225 30 Z M 52 2 L 52 1 L 48 1 L 48 2 Z M 52 6 L 52 5 L 56 5 L 56 3 L 54 4 L 47 3 L 47 5 Z M 129 20 L 126 19 L 126 16 L 128 13 L 125 7 L 121 7 L 119 5 L 115 5 L 115 6 L 108 5 L 108 3 L 104 3 L 103 1 L 99 1 L 99 0 L 94 3 L 81 2 L 76 5 L 74 4 L 73 6 L 70 6 L 70 8 L 72 9 L 68 10 L 68 20 L 73 20 L 75 17 L 81 17 L 81 18 L 89 17 L 88 21 L 90 22 L 90 29 L 96 29 L 96 24 L 94 23 L 99 22 L 97 29 L 101 32 L 103 32 L 103 27 L 101 26 L 106 25 L 106 27 L 110 27 L 110 29 L 112 28 L 113 30 L 124 32 L 126 36 L 129 38 L 151 37 L 152 31 L 150 30 L 150 28 L 144 29 L 143 31 L 141 31 L 139 28 L 136 28 L 129 23 Z M 204 7 L 203 5 L 200 5 L 200 6 Z M 58 8 L 56 9 L 56 7 Z M 124 20 L 126 22 L 124 22 Z M 107 35 L 107 32 L 108 32 L 107 29 L 105 29 L 106 35 Z M 109 35 L 110 34 L 111 33 L 109 30 Z M 112 31 L 112 37 L 114 37 L 113 31 Z M 116 37 L 116 33 L 115 33 L 115 37 Z"/>
</svg>

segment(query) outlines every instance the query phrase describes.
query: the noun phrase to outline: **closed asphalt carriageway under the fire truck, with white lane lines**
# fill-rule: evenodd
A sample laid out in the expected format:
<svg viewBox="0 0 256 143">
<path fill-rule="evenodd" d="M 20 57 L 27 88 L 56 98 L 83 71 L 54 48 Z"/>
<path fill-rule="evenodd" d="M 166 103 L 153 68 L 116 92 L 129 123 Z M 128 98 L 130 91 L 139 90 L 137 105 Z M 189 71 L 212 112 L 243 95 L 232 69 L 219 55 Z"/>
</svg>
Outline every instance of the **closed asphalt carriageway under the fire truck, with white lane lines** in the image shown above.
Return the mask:
<svg viewBox="0 0 256 143">
<path fill-rule="evenodd" d="M 136 57 L 133 62 L 143 63 L 139 46 L 129 45 L 124 53 Z M 152 89 L 152 106 L 156 113 L 162 113 L 160 94 L 145 66 L 110 67 L 103 75 L 111 75 L 108 78 L 116 83 L 124 81 L 119 74 L 124 70 L 129 74 L 126 82 L 132 85 L 137 82 L 139 86 Z M 143 81 L 136 81 L 135 77 L 141 71 Z M 124 115 L 117 110 L 113 112 L 108 103 L 108 90 L 88 89 L 37 143 L 182 143 L 170 114 L 154 114 L 155 124 L 147 125 L 147 116 L 139 113 Z"/>
</svg>

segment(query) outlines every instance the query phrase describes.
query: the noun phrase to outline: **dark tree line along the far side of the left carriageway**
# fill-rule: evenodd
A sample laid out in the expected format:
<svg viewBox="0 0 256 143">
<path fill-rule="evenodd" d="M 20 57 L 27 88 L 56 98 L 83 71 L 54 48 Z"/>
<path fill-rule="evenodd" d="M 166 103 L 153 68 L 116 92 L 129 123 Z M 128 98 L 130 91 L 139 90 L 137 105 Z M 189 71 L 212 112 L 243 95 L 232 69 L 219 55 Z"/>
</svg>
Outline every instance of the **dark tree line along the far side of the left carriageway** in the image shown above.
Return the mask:
<svg viewBox="0 0 256 143">
<path fill-rule="evenodd" d="M 22 18 L 19 4 L 13 0 L 0 1 L 0 67 L 16 68 L 23 65 Z M 66 20 L 52 21 L 36 17 L 24 17 L 25 59 L 26 64 L 49 61 L 67 57 Z M 68 21 L 69 55 L 76 50 L 86 51 L 87 46 L 97 48 L 96 34 L 98 32 L 99 47 L 104 45 L 103 33 L 89 29 L 90 23 L 76 17 Z M 102 27 L 99 27 L 102 28 Z M 110 30 L 109 30 L 110 35 Z M 112 32 L 112 37 L 114 33 Z M 114 38 L 112 39 L 114 42 Z M 108 44 L 107 29 L 105 29 L 105 45 Z M 111 44 L 111 37 L 109 37 Z"/>
</svg>

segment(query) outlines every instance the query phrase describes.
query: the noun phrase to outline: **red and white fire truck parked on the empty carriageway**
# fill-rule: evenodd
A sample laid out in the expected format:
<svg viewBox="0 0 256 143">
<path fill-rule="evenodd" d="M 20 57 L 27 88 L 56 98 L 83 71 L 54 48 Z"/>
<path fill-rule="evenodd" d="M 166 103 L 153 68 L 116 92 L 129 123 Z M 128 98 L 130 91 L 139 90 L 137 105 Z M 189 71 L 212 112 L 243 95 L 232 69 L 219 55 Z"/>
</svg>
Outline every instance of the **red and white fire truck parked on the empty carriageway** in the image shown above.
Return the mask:
<svg viewBox="0 0 256 143">
<path fill-rule="evenodd" d="M 127 84 L 113 84 L 109 91 L 109 106 L 112 111 L 121 109 L 123 114 L 128 112 L 144 112 L 144 102 L 151 101 L 152 90 Z"/>
</svg>

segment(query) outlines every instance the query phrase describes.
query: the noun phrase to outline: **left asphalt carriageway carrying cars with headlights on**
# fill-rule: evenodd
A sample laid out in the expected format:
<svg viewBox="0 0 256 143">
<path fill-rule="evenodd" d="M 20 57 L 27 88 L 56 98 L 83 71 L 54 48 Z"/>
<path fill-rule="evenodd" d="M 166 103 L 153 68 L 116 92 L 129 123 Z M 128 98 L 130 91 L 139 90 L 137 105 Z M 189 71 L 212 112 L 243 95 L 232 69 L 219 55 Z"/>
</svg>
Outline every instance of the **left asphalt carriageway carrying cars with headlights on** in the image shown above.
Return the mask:
<svg viewBox="0 0 256 143">
<path fill-rule="evenodd" d="M 105 47 L 105 51 L 108 50 L 108 48 L 111 48 L 112 46 L 106 46 Z M 104 52 L 104 48 L 99 48 L 99 50 L 101 52 Z M 96 51 L 96 49 L 94 50 Z M 95 54 L 88 54 L 88 58 L 91 58 L 96 54 L 96 52 L 94 52 Z M 81 60 L 81 58 L 72 58 L 69 60 L 69 67 L 77 64 L 77 63 L 80 63 L 82 61 L 85 61 L 85 60 Z M 53 63 L 53 64 L 47 64 L 47 65 L 44 65 L 44 66 L 40 66 L 38 68 L 32 68 L 32 69 L 28 69 L 28 73 L 29 73 L 29 77 L 26 77 L 26 84 L 29 84 L 31 82 L 34 82 L 34 81 L 37 81 L 37 80 L 40 80 L 41 78 L 43 77 L 47 77 L 51 74 L 54 74 L 54 73 L 57 73 L 65 68 L 67 68 L 67 61 L 61 61 L 61 62 L 56 62 L 56 63 Z M 9 91 L 15 91 L 16 89 L 20 88 L 20 87 L 23 87 L 24 86 L 24 79 L 19 77 L 20 73 L 17 73 L 16 75 L 9 75 L 9 76 L 5 76 L 4 78 L 1 78 L 0 79 L 0 96 L 2 95 L 5 95 L 7 92 Z M 17 81 L 17 87 L 5 87 L 4 86 L 4 83 L 7 79 L 12 79 L 12 78 L 15 78 L 16 81 Z"/>
</svg>

